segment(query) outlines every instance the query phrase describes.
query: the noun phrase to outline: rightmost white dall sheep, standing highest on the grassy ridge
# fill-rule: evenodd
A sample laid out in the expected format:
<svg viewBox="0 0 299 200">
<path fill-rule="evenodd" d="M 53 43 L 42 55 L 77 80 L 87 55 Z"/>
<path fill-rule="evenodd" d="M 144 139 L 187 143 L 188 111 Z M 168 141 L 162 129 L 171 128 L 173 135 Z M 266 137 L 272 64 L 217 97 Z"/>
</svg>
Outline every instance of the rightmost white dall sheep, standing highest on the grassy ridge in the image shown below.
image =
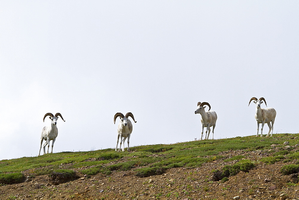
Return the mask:
<svg viewBox="0 0 299 200">
<path fill-rule="evenodd" d="M 255 119 L 257 120 L 257 136 L 259 135 L 260 123 L 262 123 L 261 137 L 263 136 L 264 125 L 265 125 L 265 123 L 267 123 L 269 126 L 269 132 L 267 134 L 267 137 L 269 137 L 269 134 L 271 131 L 270 122 L 272 122 L 272 132 L 271 132 L 271 137 L 272 137 L 273 124 L 275 121 L 276 110 L 274 108 L 261 108 L 261 104 L 263 103 L 263 101 L 265 101 L 265 104 L 267 106 L 266 100 L 263 97 L 261 97 L 259 100 L 257 100 L 256 97 L 252 97 L 249 101 L 249 104 L 252 100 L 254 100 L 253 102 L 257 105 L 257 107 L 255 108 Z M 249 104 L 248 104 L 248 106 L 249 106 Z"/>
</svg>

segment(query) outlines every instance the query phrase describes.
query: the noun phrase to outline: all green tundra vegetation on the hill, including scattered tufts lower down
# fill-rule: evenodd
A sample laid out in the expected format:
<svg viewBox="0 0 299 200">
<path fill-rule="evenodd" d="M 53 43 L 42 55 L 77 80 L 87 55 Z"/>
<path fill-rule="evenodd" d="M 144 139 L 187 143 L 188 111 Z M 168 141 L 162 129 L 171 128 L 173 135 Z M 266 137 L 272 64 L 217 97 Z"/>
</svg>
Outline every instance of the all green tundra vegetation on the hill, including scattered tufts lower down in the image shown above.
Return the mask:
<svg viewBox="0 0 299 200">
<path fill-rule="evenodd" d="M 176 144 L 155 144 L 144 146 L 130 147 L 130 152 L 115 149 L 101 149 L 96 151 L 85 152 L 60 152 L 53 154 L 45 154 L 37 157 L 22 157 L 11 160 L 0 161 L 0 177 L 11 176 L 18 173 L 24 181 L 26 176 L 32 175 L 48 175 L 53 178 L 53 184 L 59 184 L 60 179 L 57 175 L 61 175 L 61 182 L 70 181 L 75 178 L 87 175 L 87 177 L 102 174 L 110 177 L 115 172 L 125 172 L 131 170 L 137 177 L 149 177 L 152 175 L 161 175 L 167 173 L 171 168 L 200 168 L 203 163 L 215 162 L 224 163 L 222 168 L 211 169 L 210 177 L 218 173 L 219 178 L 214 181 L 225 183 L 231 180 L 240 172 L 250 172 L 253 168 L 260 165 L 269 165 L 275 162 L 285 162 L 285 166 L 277 172 L 282 175 L 293 174 L 299 172 L 299 151 L 298 148 L 292 148 L 299 143 L 299 134 L 275 134 L 274 137 L 247 136 L 235 137 L 219 140 L 196 140 L 190 142 Z M 293 139 L 288 140 L 289 137 Z M 295 137 L 295 138 L 294 138 Z M 288 140 L 291 148 L 287 148 L 283 143 Z M 271 150 L 275 145 L 275 151 Z M 271 146 L 272 145 L 272 146 Z M 235 156 L 223 156 L 223 151 L 242 150 L 242 154 Z M 256 160 L 248 156 L 253 151 L 259 153 L 267 150 L 267 156 Z M 248 155 L 247 155 L 248 154 Z M 288 163 L 292 162 L 292 163 Z M 25 172 L 24 172 L 25 171 Z M 207 177 L 206 182 L 211 182 Z M 34 178 L 33 178 L 34 179 Z M 189 179 L 192 179 L 190 175 Z M 188 180 L 189 180 L 188 179 Z M 11 181 L 1 181 L 0 184 L 13 184 L 13 178 L 6 178 Z M 111 181 L 113 181 L 111 179 Z M 191 180 L 192 181 L 192 180 Z M 213 182 L 213 181 L 212 181 Z M 175 184 L 176 180 L 169 181 L 169 184 Z M 252 183 L 254 184 L 254 182 Z M 155 187 L 155 184 L 153 184 Z M 184 189 L 186 195 L 190 191 L 187 186 Z M 209 188 L 202 188 L 203 191 L 209 192 Z M 158 194 L 158 193 L 157 193 Z M 171 193 L 174 197 L 175 193 Z M 157 197 L 158 198 L 158 197 Z"/>
</svg>

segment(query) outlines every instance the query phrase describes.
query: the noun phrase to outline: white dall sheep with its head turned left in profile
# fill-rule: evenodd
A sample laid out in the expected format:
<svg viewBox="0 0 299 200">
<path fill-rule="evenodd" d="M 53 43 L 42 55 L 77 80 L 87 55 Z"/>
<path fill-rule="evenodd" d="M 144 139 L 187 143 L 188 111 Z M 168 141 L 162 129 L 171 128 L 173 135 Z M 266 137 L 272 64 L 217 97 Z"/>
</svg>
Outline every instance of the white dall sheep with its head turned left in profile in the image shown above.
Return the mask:
<svg viewBox="0 0 299 200">
<path fill-rule="evenodd" d="M 200 114 L 202 117 L 200 119 L 200 121 L 202 122 L 202 134 L 204 133 L 204 127 L 207 127 L 207 131 L 206 131 L 206 136 L 205 139 L 209 139 L 209 135 L 210 135 L 210 127 L 213 126 L 213 137 L 212 139 L 214 139 L 214 129 L 216 126 L 216 120 L 217 120 L 217 114 L 215 111 L 211 110 L 211 111 L 205 111 L 205 107 L 203 107 L 204 105 L 209 106 L 209 110 L 211 109 L 211 106 L 209 103 L 207 102 L 198 102 L 197 103 L 197 109 L 195 110 L 195 114 Z M 209 131 L 209 133 L 208 133 Z M 207 137 L 207 133 L 208 133 L 208 137 Z M 200 138 L 200 140 L 202 140 L 202 137 Z"/>
</svg>

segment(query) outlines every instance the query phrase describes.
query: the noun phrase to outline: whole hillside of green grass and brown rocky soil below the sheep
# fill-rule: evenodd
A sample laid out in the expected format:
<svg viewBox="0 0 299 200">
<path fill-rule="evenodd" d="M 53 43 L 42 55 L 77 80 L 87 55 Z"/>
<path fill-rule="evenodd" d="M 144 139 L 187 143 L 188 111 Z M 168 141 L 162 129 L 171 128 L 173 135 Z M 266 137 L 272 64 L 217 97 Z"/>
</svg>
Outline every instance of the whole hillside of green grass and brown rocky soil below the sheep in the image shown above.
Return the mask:
<svg viewBox="0 0 299 200">
<path fill-rule="evenodd" d="M 1 160 L 0 199 L 299 199 L 298 136 Z"/>
</svg>

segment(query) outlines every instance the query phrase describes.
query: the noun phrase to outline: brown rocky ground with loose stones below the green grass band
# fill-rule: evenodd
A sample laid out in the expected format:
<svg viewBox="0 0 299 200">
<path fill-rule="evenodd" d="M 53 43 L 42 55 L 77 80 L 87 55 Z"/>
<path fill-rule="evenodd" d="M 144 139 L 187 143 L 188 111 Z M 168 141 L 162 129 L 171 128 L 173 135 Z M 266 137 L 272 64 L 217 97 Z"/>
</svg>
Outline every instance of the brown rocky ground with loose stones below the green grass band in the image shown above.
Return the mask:
<svg viewBox="0 0 299 200">
<path fill-rule="evenodd" d="M 296 146 L 295 151 L 298 149 Z M 221 152 L 220 155 L 226 158 L 244 155 L 246 159 L 260 160 L 269 156 L 268 152 L 239 150 Z M 52 185 L 48 175 L 40 175 L 30 182 L 0 186 L 0 199 L 238 199 L 237 196 L 247 200 L 299 199 L 299 184 L 290 184 L 290 175 L 280 173 L 283 165 L 296 163 L 296 160 L 270 165 L 260 162 L 254 169 L 240 172 L 225 183 L 211 180 L 213 169 L 236 162 L 215 160 L 198 168 L 172 168 L 163 175 L 147 178 L 135 176 L 136 168 L 91 177 L 80 174 L 80 168 L 75 169 L 80 178 L 59 185 Z M 61 168 L 69 169 L 69 165 L 61 165 Z M 32 175 L 32 171 L 23 173 Z"/>
</svg>

